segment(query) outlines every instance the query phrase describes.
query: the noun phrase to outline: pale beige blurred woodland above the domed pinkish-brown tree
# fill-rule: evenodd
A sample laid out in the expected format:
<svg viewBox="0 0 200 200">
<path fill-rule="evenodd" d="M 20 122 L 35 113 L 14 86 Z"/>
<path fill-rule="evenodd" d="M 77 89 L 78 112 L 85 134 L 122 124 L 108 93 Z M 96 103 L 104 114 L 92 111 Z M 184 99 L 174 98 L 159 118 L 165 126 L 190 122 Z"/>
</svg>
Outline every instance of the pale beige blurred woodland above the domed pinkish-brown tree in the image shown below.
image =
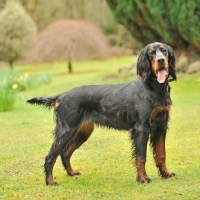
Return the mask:
<svg viewBox="0 0 200 200">
<path fill-rule="evenodd" d="M 0 0 L 1 1 L 1 0 Z M 38 29 L 58 19 L 82 19 L 97 25 L 116 23 L 105 1 L 93 0 L 19 0 L 36 22 Z"/>
</svg>

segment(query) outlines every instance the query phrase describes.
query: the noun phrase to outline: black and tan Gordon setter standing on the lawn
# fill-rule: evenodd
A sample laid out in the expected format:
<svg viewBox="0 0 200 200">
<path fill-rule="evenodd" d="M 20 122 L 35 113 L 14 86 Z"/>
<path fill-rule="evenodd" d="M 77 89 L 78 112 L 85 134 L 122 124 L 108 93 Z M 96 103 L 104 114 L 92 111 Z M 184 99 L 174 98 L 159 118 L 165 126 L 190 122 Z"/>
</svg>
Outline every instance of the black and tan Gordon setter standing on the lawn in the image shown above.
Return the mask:
<svg viewBox="0 0 200 200">
<path fill-rule="evenodd" d="M 145 170 L 149 138 L 160 175 L 175 175 L 165 163 L 165 137 L 172 105 L 169 82 L 176 80 L 172 48 L 158 42 L 147 45 L 138 57 L 137 74 L 138 78 L 128 83 L 81 86 L 27 101 L 54 108 L 55 139 L 44 164 L 47 185 L 57 185 L 53 167 L 59 155 L 68 175 L 80 174 L 72 169 L 70 158 L 90 137 L 94 124 L 130 132 L 138 182 L 151 182 Z"/>
</svg>

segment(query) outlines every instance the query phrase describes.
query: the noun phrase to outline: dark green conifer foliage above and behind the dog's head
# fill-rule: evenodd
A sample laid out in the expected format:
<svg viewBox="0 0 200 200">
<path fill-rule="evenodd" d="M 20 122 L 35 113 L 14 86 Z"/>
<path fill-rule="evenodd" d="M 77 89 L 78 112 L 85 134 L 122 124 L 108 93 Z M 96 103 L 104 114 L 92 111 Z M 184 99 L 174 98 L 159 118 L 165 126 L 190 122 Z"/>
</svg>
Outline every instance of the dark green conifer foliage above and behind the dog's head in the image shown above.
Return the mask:
<svg viewBox="0 0 200 200">
<path fill-rule="evenodd" d="M 180 0 L 107 0 L 118 22 L 147 44 L 162 41 L 174 48 L 200 50 L 200 5 Z"/>
</svg>

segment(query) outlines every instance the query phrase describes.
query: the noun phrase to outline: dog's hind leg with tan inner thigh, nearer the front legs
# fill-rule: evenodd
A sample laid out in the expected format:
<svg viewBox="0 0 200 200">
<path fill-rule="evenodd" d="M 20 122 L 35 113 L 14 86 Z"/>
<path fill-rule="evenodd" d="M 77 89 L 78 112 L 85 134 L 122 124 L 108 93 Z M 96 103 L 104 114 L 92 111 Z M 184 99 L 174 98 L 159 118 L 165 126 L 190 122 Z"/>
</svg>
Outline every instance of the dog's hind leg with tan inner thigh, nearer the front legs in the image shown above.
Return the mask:
<svg viewBox="0 0 200 200">
<path fill-rule="evenodd" d="M 87 139 L 90 137 L 94 130 L 94 124 L 89 122 L 84 122 L 79 127 L 77 133 L 71 139 L 69 144 L 64 148 L 60 154 L 64 168 L 66 169 L 69 176 L 80 175 L 72 169 L 70 158 L 74 151 L 78 149 Z"/>
</svg>

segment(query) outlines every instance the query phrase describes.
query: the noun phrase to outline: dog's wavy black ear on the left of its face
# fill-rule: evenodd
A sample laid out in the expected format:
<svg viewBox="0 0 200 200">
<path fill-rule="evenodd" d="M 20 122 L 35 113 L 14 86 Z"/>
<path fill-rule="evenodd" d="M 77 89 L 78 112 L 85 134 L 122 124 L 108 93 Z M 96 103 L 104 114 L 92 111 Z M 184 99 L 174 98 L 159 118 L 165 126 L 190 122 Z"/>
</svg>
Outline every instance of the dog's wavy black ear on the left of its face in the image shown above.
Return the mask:
<svg viewBox="0 0 200 200">
<path fill-rule="evenodd" d="M 137 74 L 145 80 L 151 74 L 151 64 L 148 58 L 149 45 L 147 45 L 137 59 Z"/>
</svg>

